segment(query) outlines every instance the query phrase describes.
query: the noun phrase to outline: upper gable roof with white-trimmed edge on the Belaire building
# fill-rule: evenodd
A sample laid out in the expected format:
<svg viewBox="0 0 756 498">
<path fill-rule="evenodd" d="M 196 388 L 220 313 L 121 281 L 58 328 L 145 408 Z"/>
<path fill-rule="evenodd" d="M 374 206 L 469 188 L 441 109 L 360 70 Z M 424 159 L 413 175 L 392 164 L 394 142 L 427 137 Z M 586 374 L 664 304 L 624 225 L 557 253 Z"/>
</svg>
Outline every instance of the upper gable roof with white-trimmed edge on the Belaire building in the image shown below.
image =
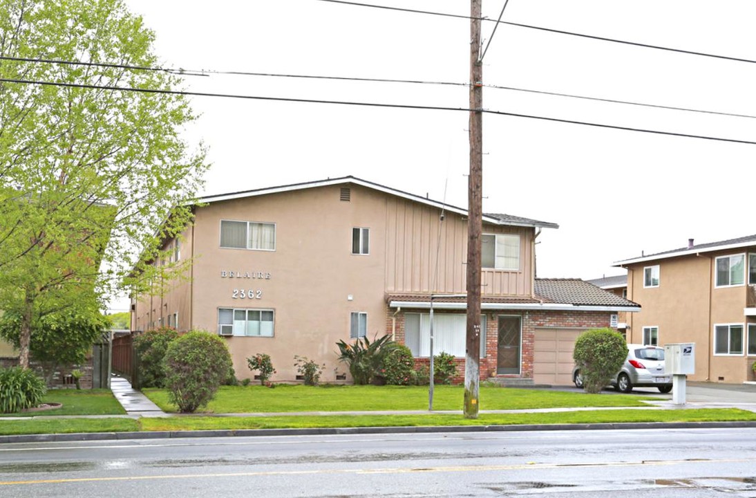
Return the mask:
<svg viewBox="0 0 756 498">
<path fill-rule="evenodd" d="M 279 192 L 290 192 L 297 190 L 305 190 L 306 188 L 318 188 L 329 185 L 360 185 L 372 190 L 381 191 L 389 195 L 395 195 L 400 198 L 408 199 L 410 201 L 419 202 L 420 204 L 426 204 L 426 206 L 437 207 L 450 211 L 452 213 L 458 213 L 462 216 L 467 216 L 467 210 L 461 207 L 451 206 L 439 201 L 433 201 L 429 198 L 421 197 L 420 195 L 410 194 L 409 192 L 397 190 L 396 188 L 386 187 L 374 182 L 368 182 L 367 180 L 356 178 L 355 176 L 342 176 L 340 178 L 332 178 L 325 180 L 318 180 L 315 182 L 301 182 L 291 183 L 289 185 L 279 185 L 277 187 L 268 188 L 256 188 L 253 190 L 245 190 L 232 192 L 229 194 L 219 195 L 207 195 L 206 197 L 197 199 L 200 204 L 209 204 L 218 201 L 230 201 L 232 199 L 259 197 L 261 195 L 277 194 Z M 485 223 L 491 223 L 494 225 L 506 225 L 506 226 L 527 226 L 536 228 L 549 228 L 558 229 L 559 225 L 556 223 L 550 223 L 546 221 L 539 221 L 538 219 L 523 218 L 522 216 L 511 216 L 508 214 L 483 214 L 483 221 Z"/>
</svg>

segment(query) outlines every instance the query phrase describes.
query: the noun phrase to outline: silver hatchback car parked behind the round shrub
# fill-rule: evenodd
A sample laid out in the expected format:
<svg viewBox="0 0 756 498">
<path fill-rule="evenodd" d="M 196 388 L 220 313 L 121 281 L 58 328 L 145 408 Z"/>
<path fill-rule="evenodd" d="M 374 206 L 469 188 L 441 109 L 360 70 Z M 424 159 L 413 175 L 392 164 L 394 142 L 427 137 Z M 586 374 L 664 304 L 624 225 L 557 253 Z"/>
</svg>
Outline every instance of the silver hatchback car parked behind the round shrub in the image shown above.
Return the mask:
<svg viewBox="0 0 756 498">
<path fill-rule="evenodd" d="M 578 366 L 572 369 L 572 381 L 576 387 L 583 387 Z M 623 393 L 629 393 L 633 388 L 658 388 L 662 393 L 672 391 L 672 375 L 664 371 L 664 348 L 627 344 L 627 359 L 611 384 Z"/>
</svg>

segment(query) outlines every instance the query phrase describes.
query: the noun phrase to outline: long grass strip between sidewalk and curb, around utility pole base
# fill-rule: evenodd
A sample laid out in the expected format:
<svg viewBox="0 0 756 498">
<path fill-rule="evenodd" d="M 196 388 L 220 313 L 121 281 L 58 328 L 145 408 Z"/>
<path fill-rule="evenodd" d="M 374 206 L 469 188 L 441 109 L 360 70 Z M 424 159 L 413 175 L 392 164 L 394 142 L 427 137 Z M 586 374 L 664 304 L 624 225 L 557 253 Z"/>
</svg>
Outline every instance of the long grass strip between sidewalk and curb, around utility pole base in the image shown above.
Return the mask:
<svg viewBox="0 0 756 498">
<path fill-rule="evenodd" d="M 141 419 L 144 431 L 202 431 L 212 429 L 273 429 L 315 427 L 417 427 L 444 425 L 600 424 L 621 422 L 733 422 L 754 421 L 756 413 L 741 409 L 624 409 L 584 412 L 484 413 L 478 419 L 461 415 L 270 416 Z"/>
</svg>

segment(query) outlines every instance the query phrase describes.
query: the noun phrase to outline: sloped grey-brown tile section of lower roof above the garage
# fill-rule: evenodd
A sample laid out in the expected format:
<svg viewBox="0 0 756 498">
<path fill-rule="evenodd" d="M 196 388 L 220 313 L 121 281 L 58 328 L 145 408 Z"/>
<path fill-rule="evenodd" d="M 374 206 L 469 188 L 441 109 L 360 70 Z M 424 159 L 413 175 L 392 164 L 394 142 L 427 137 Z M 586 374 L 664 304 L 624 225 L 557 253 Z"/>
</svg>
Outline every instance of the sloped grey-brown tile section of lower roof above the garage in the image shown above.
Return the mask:
<svg viewBox="0 0 756 498">
<path fill-rule="evenodd" d="M 535 294 L 550 303 L 640 308 L 639 304 L 631 300 L 623 299 L 581 279 L 535 279 Z"/>
</svg>

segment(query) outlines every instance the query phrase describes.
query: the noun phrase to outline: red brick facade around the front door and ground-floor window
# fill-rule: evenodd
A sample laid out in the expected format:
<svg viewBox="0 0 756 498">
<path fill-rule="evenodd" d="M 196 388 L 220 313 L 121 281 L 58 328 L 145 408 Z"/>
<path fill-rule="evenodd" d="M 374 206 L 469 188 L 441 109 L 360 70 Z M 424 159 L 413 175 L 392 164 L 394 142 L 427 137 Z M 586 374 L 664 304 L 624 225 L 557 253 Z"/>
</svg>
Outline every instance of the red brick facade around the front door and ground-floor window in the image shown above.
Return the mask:
<svg viewBox="0 0 756 498">
<path fill-rule="evenodd" d="M 387 310 L 386 332 L 392 335 L 395 341 L 404 344 L 404 310 L 396 313 L 395 310 Z M 428 310 L 409 310 L 410 313 L 427 313 Z M 448 313 L 448 312 L 439 312 Z M 550 311 L 550 310 L 533 310 L 533 311 L 509 311 L 497 310 L 487 311 L 486 333 L 485 333 L 485 357 L 480 359 L 480 380 L 485 381 L 491 377 L 504 378 L 533 378 L 533 361 L 535 347 L 535 329 L 550 328 L 603 328 L 609 327 L 610 316 L 612 313 L 606 311 Z M 520 356 L 520 373 L 498 375 L 498 323 L 497 316 L 519 316 L 522 324 L 521 356 Z M 465 359 L 457 357 L 457 375 L 452 379 L 452 383 L 460 384 L 464 381 Z M 415 366 L 429 365 L 427 357 L 415 359 Z"/>
</svg>

